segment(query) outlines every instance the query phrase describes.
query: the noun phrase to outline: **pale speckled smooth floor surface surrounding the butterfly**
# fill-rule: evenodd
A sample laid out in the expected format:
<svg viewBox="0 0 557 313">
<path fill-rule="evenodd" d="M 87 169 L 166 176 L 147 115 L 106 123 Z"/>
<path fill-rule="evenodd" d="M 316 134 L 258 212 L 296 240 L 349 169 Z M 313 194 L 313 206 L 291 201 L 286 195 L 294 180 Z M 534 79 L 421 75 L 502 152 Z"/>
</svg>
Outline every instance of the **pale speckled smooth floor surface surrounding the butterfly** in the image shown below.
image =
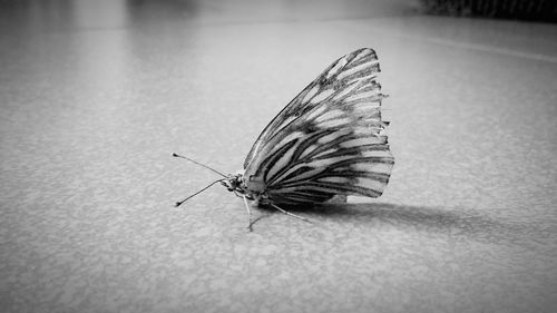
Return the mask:
<svg viewBox="0 0 557 313">
<path fill-rule="evenodd" d="M 0 312 L 556 312 L 557 26 L 413 2 L 1 2 Z M 382 197 L 173 207 L 361 47 Z"/>
</svg>

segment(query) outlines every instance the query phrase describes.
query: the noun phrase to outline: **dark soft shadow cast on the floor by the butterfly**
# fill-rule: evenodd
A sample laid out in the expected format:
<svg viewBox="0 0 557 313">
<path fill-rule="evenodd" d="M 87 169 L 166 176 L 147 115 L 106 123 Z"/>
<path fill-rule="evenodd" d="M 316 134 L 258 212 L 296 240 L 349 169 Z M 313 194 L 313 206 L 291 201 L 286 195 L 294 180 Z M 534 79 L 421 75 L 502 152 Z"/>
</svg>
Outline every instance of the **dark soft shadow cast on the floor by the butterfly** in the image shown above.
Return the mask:
<svg viewBox="0 0 557 313">
<path fill-rule="evenodd" d="M 466 207 L 356 203 L 290 207 L 289 212 L 301 214 L 317 224 L 334 221 L 336 224 L 349 224 L 352 227 L 373 225 L 377 228 L 395 227 L 418 232 L 446 233 L 451 236 L 491 243 L 511 242 L 531 232 L 531 227 L 528 225 L 504 223 L 482 214 L 479 209 Z M 267 216 L 260 216 L 257 221 Z"/>
</svg>

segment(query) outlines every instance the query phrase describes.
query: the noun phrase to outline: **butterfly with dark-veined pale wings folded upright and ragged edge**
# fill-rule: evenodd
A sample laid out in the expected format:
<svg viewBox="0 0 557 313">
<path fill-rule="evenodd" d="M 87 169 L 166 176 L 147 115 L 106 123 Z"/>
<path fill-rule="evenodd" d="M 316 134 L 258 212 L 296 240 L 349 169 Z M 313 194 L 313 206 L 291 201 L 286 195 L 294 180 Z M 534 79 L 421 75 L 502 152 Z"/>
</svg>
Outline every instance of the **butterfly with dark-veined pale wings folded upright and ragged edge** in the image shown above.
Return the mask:
<svg viewBox="0 0 557 313">
<path fill-rule="evenodd" d="M 224 175 L 174 154 L 224 177 L 176 206 L 221 183 L 244 199 L 251 229 L 248 200 L 305 219 L 281 206 L 320 204 L 335 196 L 381 196 L 394 158 L 383 134 L 389 123 L 381 119 L 387 96 L 378 82 L 380 71 L 370 48 L 334 61 L 263 129 L 238 174 Z"/>
</svg>

